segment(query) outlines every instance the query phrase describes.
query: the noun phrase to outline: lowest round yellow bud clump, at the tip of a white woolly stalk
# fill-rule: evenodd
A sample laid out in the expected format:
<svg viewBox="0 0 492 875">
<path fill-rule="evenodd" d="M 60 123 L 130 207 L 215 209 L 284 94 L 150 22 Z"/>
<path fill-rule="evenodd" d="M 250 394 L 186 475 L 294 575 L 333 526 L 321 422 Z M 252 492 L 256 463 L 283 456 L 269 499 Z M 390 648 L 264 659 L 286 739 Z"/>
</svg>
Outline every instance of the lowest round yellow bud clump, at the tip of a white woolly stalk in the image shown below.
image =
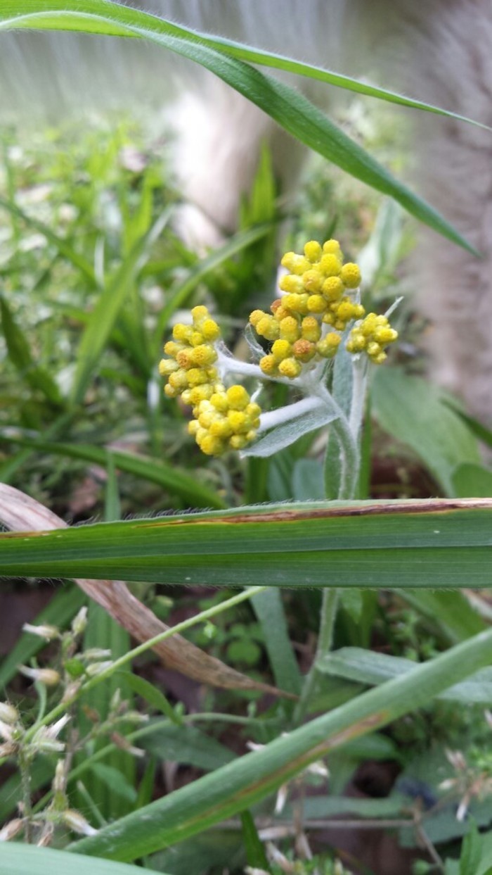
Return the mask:
<svg viewBox="0 0 492 875">
<path fill-rule="evenodd" d="M 251 401 L 243 386 L 214 392 L 210 401 L 201 401 L 188 425 L 200 450 L 207 456 L 220 456 L 226 450 L 242 450 L 256 437 L 260 425 L 260 405 Z"/>
</svg>

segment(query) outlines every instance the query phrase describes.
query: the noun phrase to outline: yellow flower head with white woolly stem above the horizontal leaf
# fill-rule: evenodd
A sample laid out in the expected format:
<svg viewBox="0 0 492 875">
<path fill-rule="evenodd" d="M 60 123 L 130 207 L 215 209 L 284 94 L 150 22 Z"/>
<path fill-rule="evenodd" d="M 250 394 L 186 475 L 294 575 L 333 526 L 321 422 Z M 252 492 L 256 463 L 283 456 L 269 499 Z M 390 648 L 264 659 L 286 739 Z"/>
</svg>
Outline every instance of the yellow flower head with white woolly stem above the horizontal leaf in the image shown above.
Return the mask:
<svg viewBox="0 0 492 875">
<path fill-rule="evenodd" d="M 369 366 L 385 361 L 385 347 L 398 332 L 388 321 L 390 311 L 365 312 L 360 269 L 353 262 L 343 263 L 336 240 L 322 245 L 310 241 L 303 255 L 288 252 L 281 264 L 281 297 L 274 300 L 270 313 L 254 310 L 246 327 L 256 362 L 234 358 L 217 322 L 206 307 L 197 306 L 191 310 L 191 325 L 175 325 L 173 339 L 164 346 L 168 358 L 159 366 L 167 377 L 164 392 L 170 398 L 181 395 L 191 405 L 188 430 L 211 456 L 228 450 L 270 456 L 302 434 L 331 423 L 341 449 L 338 498 L 350 499 L 357 485 Z M 333 385 L 329 389 L 336 357 L 343 359 L 341 367 L 347 372 L 344 390 L 351 384 L 349 409 L 346 398 L 337 397 Z M 233 376 L 281 382 L 295 388 L 301 398 L 262 412 L 257 400 L 261 384 L 250 396 L 244 386 L 231 384 Z"/>
</svg>

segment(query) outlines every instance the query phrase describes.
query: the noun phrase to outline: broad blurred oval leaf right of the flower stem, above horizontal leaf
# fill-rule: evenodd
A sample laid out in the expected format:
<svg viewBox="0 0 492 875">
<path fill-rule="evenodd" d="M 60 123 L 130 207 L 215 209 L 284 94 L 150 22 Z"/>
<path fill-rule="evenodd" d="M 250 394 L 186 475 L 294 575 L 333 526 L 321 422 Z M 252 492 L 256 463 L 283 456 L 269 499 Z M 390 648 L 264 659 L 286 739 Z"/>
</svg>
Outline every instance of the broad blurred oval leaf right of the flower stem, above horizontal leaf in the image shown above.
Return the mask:
<svg viewBox="0 0 492 875">
<path fill-rule="evenodd" d="M 480 464 L 475 437 L 432 383 L 409 376 L 398 367 L 378 368 L 371 403 L 381 427 L 412 447 L 447 495 L 454 494 L 457 465 Z"/>
</svg>

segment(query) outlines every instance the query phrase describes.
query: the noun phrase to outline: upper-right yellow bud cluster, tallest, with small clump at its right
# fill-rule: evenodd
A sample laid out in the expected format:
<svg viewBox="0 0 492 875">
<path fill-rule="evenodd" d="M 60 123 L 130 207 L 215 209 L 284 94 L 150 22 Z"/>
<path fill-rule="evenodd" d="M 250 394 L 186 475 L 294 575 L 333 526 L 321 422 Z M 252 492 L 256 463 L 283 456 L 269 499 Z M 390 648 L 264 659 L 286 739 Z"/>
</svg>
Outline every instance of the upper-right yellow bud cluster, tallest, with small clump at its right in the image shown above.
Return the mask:
<svg viewBox="0 0 492 875">
<path fill-rule="evenodd" d="M 361 274 L 357 264 L 343 264 L 343 253 L 336 240 L 327 240 L 322 245 L 310 241 L 304 247 L 304 255 L 288 252 L 281 263 L 289 271 L 279 283 L 282 297 L 271 305 L 271 314 L 254 310 L 249 321 L 260 337 L 272 343 L 270 351 L 260 359 L 263 373 L 295 379 L 308 362 L 333 358 L 347 325 L 364 317 L 365 310 L 357 296 Z M 373 319 L 383 319 L 375 325 L 376 334 L 371 337 L 367 334 L 364 344 L 354 339 L 347 349 L 350 353 L 365 352 L 379 364 L 385 359 L 383 347 L 398 335 L 385 317 L 374 313 L 364 323 L 357 323 L 357 327 L 364 325 L 360 332 L 365 332 L 365 323 L 372 325 Z"/>
</svg>

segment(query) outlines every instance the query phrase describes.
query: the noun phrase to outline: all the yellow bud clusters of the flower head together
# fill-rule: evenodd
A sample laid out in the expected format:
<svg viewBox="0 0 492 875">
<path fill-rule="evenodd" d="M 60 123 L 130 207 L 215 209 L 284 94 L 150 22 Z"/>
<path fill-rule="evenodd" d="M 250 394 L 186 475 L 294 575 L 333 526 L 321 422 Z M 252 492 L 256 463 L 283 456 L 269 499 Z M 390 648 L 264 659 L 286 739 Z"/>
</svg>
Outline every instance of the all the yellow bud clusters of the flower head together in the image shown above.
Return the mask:
<svg viewBox="0 0 492 875">
<path fill-rule="evenodd" d="M 218 324 L 204 306 L 191 310 L 191 325 L 175 325 L 173 339 L 164 346 L 167 358 L 159 365 L 167 378 L 164 392 L 169 398 L 181 396 L 191 406 L 188 430 L 207 455 L 243 450 L 259 429 L 271 430 L 286 421 L 285 409 L 280 418 L 274 416 L 279 411 L 271 411 L 260 420 L 259 405 L 246 388 L 229 386 L 227 374 L 295 380 L 301 392 L 312 393 L 318 377 L 322 381 L 323 362 L 336 355 L 350 327 L 346 350 L 376 364 L 385 360 L 385 346 L 398 337 L 385 316 L 366 315 L 359 299 L 360 269 L 343 263 L 336 240 L 310 241 L 303 255 L 288 252 L 281 263 L 287 270 L 279 283 L 281 297 L 270 312 L 254 310 L 249 318 L 267 341 L 260 348 L 250 344 L 258 364 L 237 361 L 227 353 Z"/>
</svg>

